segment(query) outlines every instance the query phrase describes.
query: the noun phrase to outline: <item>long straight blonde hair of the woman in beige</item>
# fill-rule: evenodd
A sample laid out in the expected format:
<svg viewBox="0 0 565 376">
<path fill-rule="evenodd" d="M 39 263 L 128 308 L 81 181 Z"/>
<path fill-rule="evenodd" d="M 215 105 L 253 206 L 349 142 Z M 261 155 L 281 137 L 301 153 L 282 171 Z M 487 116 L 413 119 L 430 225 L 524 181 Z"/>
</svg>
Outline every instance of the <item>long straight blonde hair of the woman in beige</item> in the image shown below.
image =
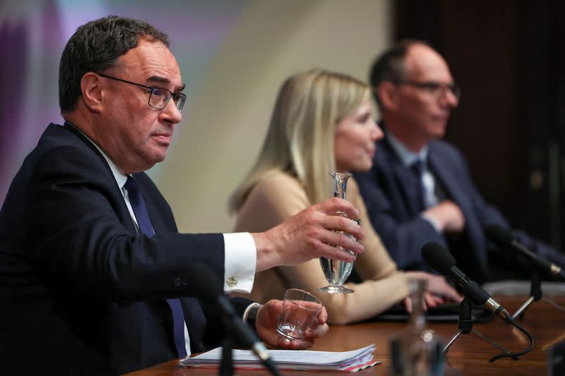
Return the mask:
<svg viewBox="0 0 565 376">
<path fill-rule="evenodd" d="M 273 170 L 298 178 L 312 204 L 331 197 L 335 126 L 370 93 L 369 85 L 356 78 L 321 69 L 287 78 L 278 92 L 261 153 L 230 198 L 230 212 L 237 212 L 255 184 Z"/>
</svg>

